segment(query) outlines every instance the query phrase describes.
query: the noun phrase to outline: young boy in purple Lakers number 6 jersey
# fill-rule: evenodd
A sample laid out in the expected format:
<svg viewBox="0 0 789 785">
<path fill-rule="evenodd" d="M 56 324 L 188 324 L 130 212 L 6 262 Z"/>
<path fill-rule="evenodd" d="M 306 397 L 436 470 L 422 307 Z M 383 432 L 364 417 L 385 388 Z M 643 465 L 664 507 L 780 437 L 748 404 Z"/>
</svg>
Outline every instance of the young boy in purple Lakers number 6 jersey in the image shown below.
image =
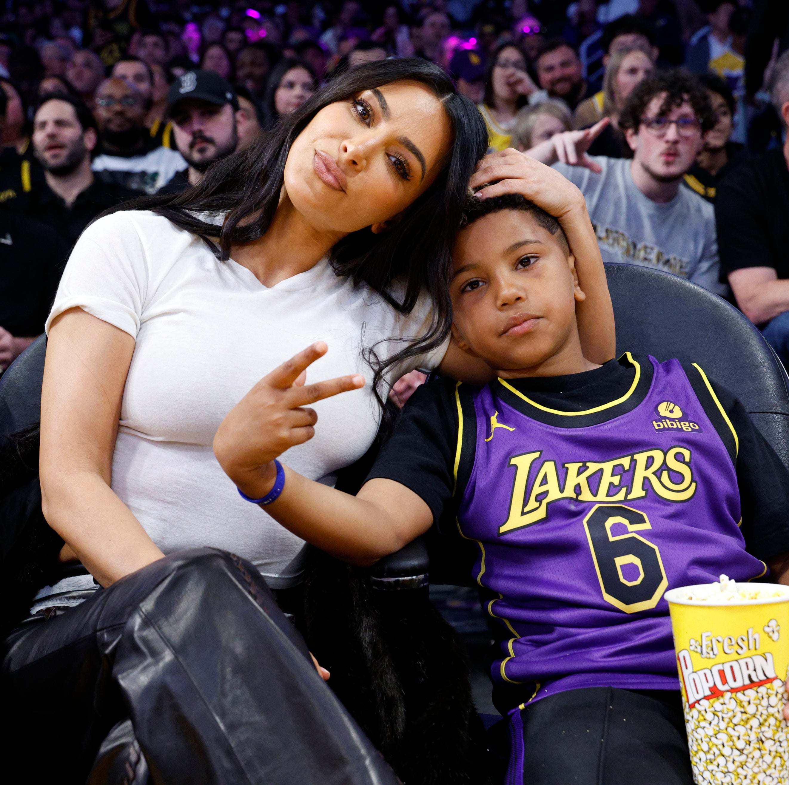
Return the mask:
<svg viewBox="0 0 789 785">
<path fill-rule="evenodd" d="M 522 196 L 469 205 L 450 287 L 454 338 L 497 378 L 421 387 L 356 497 L 269 463 L 310 438 L 291 385 L 321 346 L 267 377 L 294 404 L 245 430 L 249 455 L 229 458 L 229 417 L 217 456 L 242 492 L 275 497 L 266 510 L 287 529 L 349 561 L 447 518 L 477 541 L 473 575 L 503 634 L 508 782 L 691 783 L 664 592 L 761 578 L 765 563 L 785 580 L 789 474 L 697 365 L 583 357 L 574 258 Z"/>
</svg>

